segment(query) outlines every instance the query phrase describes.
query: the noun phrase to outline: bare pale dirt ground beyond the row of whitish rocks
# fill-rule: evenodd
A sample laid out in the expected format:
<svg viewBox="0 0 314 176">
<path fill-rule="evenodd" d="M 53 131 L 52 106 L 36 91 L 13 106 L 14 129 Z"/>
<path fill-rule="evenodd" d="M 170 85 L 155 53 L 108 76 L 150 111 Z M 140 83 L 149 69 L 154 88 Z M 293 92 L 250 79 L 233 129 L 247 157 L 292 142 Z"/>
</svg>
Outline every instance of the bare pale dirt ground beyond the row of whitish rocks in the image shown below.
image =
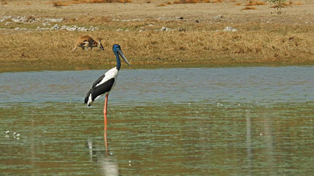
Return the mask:
<svg viewBox="0 0 314 176">
<path fill-rule="evenodd" d="M 313 24 L 314 1 L 293 0 L 292 4 L 282 9 L 283 15 L 271 15 L 277 12 L 270 8 L 274 4 L 256 5 L 256 10 L 242 10 L 249 0 L 224 0 L 218 3 L 195 4 L 166 4 L 162 0 L 136 0 L 131 3 L 83 3 L 53 7 L 51 1 L 39 0 L 13 0 L 8 4 L 0 5 L 1 16 L 33 16 L 35 18 L 62 18 L 71 19 L 79 17 L 109 17 L 112 20 L 173 20 L 183 17 L 184 20 L 207 22 L 221 15 L 225 22 L 284 22 L 294 24 Z M 262 0 L 261 0 L 262 1 Z M 288 0 L 287 0 L 288 1 Z M 66 1 L 65 1 L 66 2 Z M 171 1 L 170 1 L 171 2 Z M 301 5 L 294 5 L 301 4 Z M 240 5 L 237 5 L 240 4 Z"/>
</svg>

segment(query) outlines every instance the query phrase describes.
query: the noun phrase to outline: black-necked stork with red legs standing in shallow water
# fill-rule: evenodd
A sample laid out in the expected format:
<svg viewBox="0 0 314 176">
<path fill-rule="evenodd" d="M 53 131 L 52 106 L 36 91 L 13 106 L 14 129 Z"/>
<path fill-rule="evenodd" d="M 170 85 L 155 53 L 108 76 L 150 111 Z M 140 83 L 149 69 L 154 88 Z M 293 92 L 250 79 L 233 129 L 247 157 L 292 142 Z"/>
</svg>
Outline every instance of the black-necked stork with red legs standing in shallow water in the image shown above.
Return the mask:
<svg viewBox="0 0 314 176">
<path fill-rule="evenodd" d="M 121 47 L 119 44 L 114 44 L 112 46 L 112 50 L 116 55 L 117 59 L 117 66 L 108 70 L 105 74 L 103 74 L 100 78 L 98 78 L 95 83 L 93 84 L 92 88 L 88 91 L 85 97 L 85 104 L 91 106 L 92 103 L 97 100 L 99 97 L 105 96 L 105 107 L 104 107 L 104 118 L 105 118 L 105 130 L 107 130 L 107 101 L 108 101 L 108 94 L 114 88 L 117 83 L 117 76 L 118 72 L 121 67 L 121 61 L 119 55 L 122 59 L 129 65 L 129 61 L 124 56 Z"/>
</svg>

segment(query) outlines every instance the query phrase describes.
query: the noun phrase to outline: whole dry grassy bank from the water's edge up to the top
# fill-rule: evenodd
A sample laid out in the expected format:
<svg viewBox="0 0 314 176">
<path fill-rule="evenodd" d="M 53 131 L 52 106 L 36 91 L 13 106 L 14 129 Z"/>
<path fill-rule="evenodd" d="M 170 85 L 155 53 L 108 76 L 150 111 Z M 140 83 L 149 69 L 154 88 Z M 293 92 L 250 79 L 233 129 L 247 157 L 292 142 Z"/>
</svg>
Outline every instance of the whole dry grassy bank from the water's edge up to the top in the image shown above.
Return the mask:
<svg viewBox="0 0 314 176">
<path fill-rule="evenodd" d="M 236 3 L 239 1 L 162 7 L 157 6 L 160 2 L 101 3 L 85 4 L 85 10 L 80 9 L 82 4 L 60 9 L 42 1 L 8 4 L 4 15 L 27 16 L 30 12 L 26 7 L 35 5 L 37 9 L 31 13 L 37 15 L 31 18 L 63 19 L 49 22 L 48 27 L 92 25 L 98 30 L 36 30 L 43 27 L 43 20 L 0 22 L 0 37 L 5 41 L 0 45 L 1 66 L 112 66 L 115 59 L 111 47 L 115 43 L 121 45 L 131 64 L 138 66 L 314 63 L 312 3 L 290 6 L 283 15 L 270 14 L 274 11 L 270 4 L 243 12 L 245 5 Z M 16 6 L 20 6 L 17 12 L 13 11 Z M 99 14 L 90 15 L 93 12 Z M 222 17 L 214 18 L 217 14 Z M 162 26 L 171 30 L 156 31 Z M 237 31 L 222 31 L 226 26 Z M 119 28 L 122 30 L 117 31 Z M 103 38 L 105 50 L 71 51 L 80 35 Z"/>
</svg>

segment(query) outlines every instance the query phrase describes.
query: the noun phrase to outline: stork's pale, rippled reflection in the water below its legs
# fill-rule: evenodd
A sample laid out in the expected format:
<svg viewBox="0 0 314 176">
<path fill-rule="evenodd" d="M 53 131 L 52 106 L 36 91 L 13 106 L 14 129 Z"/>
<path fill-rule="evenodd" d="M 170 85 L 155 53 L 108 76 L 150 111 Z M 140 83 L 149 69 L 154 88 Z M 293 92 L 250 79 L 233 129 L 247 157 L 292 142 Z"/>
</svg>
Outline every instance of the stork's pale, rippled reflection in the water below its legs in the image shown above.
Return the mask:
<svg viewBox="0 0 314 176">
<path fill-rule="evenodd" d="M 87 139 L 87 146 L 89 150 L 90 159 L 93 162 L 97 162 L 100 165 L 102 176 L 119 176 L 118 162 L 115 156 L 108 154 L 108 143 L 106 137 L 106 131 L 104 133 L 105 137 L 105 150 L 96 150 L 93 146 L 93 141 L 89 136 Z"/>
</svg>

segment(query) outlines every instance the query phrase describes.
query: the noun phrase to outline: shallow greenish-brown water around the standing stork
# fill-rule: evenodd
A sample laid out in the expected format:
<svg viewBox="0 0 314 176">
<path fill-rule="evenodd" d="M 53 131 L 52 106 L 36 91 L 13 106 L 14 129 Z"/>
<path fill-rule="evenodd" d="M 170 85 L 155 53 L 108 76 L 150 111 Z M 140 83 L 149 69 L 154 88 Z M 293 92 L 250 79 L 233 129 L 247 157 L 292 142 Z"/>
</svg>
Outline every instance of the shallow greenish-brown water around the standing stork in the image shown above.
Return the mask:
<svg viewBox="0 0 314 176">
<path fill-rule="evenodd" d="M 106 70 L 0 73 L 0 175 L 311 175 L 313 70 L 122 69 L 107 148 Z"/>
</svg>

